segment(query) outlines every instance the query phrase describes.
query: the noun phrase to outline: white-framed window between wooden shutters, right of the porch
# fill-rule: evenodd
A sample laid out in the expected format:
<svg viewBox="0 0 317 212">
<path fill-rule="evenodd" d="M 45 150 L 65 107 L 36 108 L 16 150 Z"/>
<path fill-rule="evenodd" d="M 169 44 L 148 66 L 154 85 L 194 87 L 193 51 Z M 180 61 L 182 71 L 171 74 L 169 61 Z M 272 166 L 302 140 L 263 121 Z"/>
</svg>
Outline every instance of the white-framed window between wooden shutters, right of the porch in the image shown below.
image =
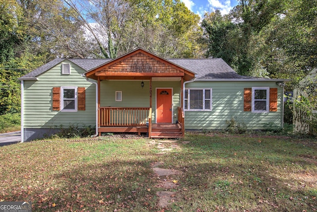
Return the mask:
<svg viewBox="0 0 317 212">
<path fill-rule="evenodd" d="M 269 87 L 252 87 L 252 112 L 269 111 Z"/>
</svg>

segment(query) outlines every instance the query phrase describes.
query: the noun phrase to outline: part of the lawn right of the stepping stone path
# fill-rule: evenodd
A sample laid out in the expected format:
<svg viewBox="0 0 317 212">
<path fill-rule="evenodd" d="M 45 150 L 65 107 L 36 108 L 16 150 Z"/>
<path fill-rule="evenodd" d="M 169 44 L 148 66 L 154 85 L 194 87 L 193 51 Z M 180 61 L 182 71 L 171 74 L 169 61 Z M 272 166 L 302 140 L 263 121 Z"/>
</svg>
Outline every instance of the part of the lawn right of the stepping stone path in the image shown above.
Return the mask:
<svg viewBox="0 0 317 212">
<path fill-rule="evenodd" d="M 183 182 L 179 199 L 184 211 L 317 210 L 316 163 L 299 156 L 306 147 L 273 145 L 278 141 L 259 138 L 191 140 L 173 158 L 179 161 L 173 168 L 183 171 L 178 180 Z M 297 152 L 281 149 L 290 145 Z M 310 180 L 305 178 L 307 174 Z"/>
</svg>

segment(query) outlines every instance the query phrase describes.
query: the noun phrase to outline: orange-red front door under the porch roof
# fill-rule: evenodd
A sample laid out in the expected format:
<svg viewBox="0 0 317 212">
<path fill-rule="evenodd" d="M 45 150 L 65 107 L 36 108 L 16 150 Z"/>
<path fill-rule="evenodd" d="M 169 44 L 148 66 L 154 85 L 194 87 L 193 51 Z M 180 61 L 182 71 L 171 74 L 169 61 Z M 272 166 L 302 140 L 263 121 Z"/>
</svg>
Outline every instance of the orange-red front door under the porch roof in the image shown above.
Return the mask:
<svg viewBox="0 0 317 212">
<path fill-rule="evenodd" d="M 157 89 L 157 123 L 172 123 L 172 89 Z"/>
</svg>

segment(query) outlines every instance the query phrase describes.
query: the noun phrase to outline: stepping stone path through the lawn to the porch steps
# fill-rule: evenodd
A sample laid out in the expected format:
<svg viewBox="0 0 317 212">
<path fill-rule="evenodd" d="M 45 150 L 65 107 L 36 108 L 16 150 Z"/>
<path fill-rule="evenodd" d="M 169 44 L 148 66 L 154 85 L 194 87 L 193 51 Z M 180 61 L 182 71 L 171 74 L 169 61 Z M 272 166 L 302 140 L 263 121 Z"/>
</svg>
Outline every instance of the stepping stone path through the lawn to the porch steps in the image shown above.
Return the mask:
<svg viewBox="0 0 317 212">
<path fill-rule="evenodd" d="M 177 148 L 180 148 L 177 144 L 171 144 L 175 143 L 177 140 L 163 140 L 159 141 L 158 143 L 156 141 L 150 141 L 149 143 L 151 145 L 157 145 L 157 148 L 161 150 L 158 154 L 167 154 L 168 151 L 175 150 Z M 168 144 L 168 148 L 165 147 L 164 144 Z M 159 182 L 157 187 L 161 188 L 163 191 L 157 192 L 157 196 L 159 197 L 159 207 L 166 208 L 169 204 L 176 201 L 175 194 L 176 192 L 168 191 L 170 189 L 176 189 L 178 184 L 177 181 L 171 181 L 171 179 L 168 177 L 170 175 L 178 175 L 180 174 L 180 171 L 173 170 L 173 169 L 163 169 L 159 168 L 159 166 L 163 165 L 164 162 L 154 162 L 152 164 L 153 171 L 158 175 Z"/>
</svg>

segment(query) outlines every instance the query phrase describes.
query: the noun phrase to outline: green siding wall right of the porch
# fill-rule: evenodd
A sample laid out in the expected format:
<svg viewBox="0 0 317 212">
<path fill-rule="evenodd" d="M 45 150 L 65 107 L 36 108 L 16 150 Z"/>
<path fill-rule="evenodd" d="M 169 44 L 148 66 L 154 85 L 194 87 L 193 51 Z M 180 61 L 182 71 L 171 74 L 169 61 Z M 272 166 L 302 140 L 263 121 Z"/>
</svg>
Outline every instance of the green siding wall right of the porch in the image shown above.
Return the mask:
<svg viewBox="0 0 317 212">
<path fill-rule="evenodd" d="M 277 111 L 244 111 L 244 88 L 252 87 L 277 88 Z M 254 130 L 264 129 L 264 124 L 283 127 L 283 88 L 275 82 L 191 82 L 186 88 L 212 88 L 212 111 L 185 111 L 186 130 L 225 129 L 231 119 Z"/>
</svg>

